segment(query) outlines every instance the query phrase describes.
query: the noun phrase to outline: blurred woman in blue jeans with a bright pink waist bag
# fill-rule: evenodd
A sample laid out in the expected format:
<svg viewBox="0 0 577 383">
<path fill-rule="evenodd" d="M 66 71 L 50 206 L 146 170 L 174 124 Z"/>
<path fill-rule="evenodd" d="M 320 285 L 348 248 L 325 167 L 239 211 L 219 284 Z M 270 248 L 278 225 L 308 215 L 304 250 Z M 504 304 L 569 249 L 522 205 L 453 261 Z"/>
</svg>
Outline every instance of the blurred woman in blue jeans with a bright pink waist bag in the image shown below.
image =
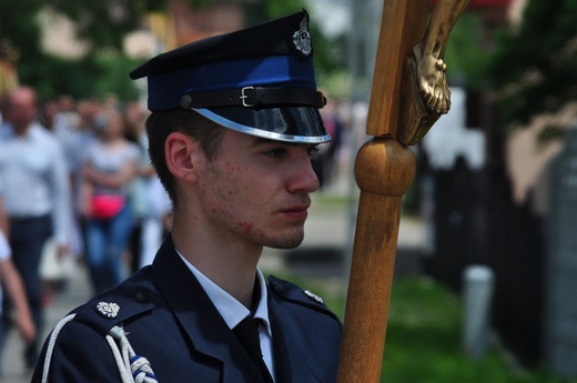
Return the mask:
<svg viewBox="0 0 577 383">
<path fill-rule="evenodd" d="M 114 107 L 107 107 L 98 119 L 98 140 L 85 150 L 82 196 L 85 260 L 92 286 L 100 293 L 124 276 L 123 255 L 133 222 L 129 192 L 140 150 L 125 139 L 124 118 Z"/>
</svg>

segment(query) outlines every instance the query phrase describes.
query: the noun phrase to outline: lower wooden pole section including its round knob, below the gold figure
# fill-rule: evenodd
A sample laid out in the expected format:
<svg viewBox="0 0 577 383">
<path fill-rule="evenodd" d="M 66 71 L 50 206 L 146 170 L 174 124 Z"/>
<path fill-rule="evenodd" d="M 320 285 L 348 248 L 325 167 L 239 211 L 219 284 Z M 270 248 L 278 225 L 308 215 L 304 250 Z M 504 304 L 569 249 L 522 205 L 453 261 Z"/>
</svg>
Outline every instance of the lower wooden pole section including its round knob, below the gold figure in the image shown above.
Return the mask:
<svg viewBox="0 0 577 383">
<path fill-rule="evenodd" d="M 361 199 L 340 383 L 379 381 L 401 205 L 414 174 L 413 152 L 396 140 L 375 138 L 358 152 L 355 177 Z"/>
</svg>

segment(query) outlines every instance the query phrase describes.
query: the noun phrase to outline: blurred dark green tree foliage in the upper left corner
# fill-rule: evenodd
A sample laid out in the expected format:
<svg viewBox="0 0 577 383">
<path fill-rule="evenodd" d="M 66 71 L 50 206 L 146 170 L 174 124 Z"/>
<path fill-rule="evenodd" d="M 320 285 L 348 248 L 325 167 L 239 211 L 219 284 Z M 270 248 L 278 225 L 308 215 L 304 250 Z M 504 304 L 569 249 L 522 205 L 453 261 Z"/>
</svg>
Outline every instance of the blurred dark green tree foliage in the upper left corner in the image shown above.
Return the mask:
<svg viewBox="0 0 577 383">
<path fill-rule="evenodd" d="M 123 62 L 120 54 L 123 37 L 139 27 L 140 17 L 149 11 L 165 7 L 164 0 L 141 1 L 67 1 L 67 0 L 21 0 L 0 1 L 0 40 L 8 41 L 17 51 L 18 74 L 20 82 L 33 85 L 44 99 L 60 94 L 75 98 L 97 95 L 98 85 L 118 62 L 103 60 L 115 57 L 112 61 Z M 89 53 L 81 60 L 53 57 L 40 47 L 40 12 L 47 8 L 55 10 L 78 26 L 79 38 L 89 47 Z M 123 81 L 113 83 L 111 92 L 135 94 L 125 75 Z"/>
</svg>

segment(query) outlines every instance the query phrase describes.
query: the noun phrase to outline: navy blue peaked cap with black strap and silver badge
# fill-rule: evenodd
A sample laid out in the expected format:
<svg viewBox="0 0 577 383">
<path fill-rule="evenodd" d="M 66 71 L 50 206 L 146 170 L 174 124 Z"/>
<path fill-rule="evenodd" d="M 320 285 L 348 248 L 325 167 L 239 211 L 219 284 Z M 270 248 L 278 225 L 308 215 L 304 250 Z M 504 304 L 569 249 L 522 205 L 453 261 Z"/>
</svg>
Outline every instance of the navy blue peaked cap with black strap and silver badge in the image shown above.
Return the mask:
<svg viewBox="0 0 577 383">
<path fill-rule="evenodd" d="M 308 13 L 294 13 L 159 54 L 130 72 L 146 77 L 153 112 L 193 109 L 233 130 L 321 143 L 326 133 L 316 90 Z"/>
</svg>

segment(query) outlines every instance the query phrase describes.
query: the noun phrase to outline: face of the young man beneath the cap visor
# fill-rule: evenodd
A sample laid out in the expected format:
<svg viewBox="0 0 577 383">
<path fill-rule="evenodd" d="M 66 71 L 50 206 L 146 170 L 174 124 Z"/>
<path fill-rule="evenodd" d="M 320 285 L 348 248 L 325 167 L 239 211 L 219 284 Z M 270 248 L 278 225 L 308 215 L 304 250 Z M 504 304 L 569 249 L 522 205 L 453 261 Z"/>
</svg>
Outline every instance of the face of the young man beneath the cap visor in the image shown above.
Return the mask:
<svg viewBox="0 0 577 383">
<path fill-rule="evenodd" d="M 315 145 L 224 132 L 200 180 L 203 213 L 222 240 L 279 249 L 304 238 L 310 193 L 318 188 L 311 165 Z"/>
</svg>

